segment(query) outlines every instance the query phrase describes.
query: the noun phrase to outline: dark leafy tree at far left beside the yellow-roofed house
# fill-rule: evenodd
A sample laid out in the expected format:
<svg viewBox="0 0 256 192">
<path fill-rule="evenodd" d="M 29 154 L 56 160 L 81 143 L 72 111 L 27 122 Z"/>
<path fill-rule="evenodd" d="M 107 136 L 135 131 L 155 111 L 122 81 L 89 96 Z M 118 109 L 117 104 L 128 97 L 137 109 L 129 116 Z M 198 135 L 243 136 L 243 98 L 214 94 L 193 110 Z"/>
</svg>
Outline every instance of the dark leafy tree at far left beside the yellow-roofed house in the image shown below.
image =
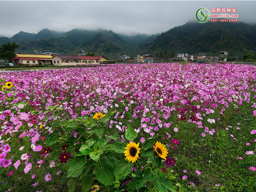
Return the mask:
<svg viewBox="0 0 256 192">
<path fill-rule="evenodd" d="M 3 44 L 0 47 L 0 58 L 5 62 L 6 60 L 13 58 L 15 56 L 15 49 L 17 48 L 20 48 L 20 45 L 15 42 L 12 42 L 12 44 L 10 42 Z"/>
</svg>

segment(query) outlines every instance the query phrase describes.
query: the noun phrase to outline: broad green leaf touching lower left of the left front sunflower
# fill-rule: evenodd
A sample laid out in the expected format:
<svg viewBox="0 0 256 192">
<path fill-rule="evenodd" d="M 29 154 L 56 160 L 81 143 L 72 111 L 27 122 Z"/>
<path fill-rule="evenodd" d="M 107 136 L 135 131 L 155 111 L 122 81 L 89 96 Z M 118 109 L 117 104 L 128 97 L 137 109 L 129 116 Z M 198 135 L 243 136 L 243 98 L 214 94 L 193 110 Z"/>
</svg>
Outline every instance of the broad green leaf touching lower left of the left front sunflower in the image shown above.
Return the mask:
<svg viewBox="0 0 256 192">
<path fill-rule="evenodd" d="M 132 163 L 127 163 L 125 160 L 120 160 L 115 167 L 114 175 L 116 180 L 124 179 L 126 175 L 132 172 Z"/>
</svg>

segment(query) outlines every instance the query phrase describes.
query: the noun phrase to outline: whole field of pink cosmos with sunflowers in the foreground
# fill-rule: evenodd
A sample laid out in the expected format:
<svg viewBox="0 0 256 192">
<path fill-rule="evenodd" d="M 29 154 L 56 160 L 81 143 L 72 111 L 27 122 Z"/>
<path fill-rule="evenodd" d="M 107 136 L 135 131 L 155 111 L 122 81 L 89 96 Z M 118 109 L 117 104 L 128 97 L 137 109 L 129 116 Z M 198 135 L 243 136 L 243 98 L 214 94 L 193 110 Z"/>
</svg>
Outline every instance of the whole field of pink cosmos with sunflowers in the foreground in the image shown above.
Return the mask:
<svg viewBox="0 0 256 192">
<path fill-rule="evenodd" d="M 0 72 L 0 191 L 256 191 L 256 67 Z"/>
</svg>

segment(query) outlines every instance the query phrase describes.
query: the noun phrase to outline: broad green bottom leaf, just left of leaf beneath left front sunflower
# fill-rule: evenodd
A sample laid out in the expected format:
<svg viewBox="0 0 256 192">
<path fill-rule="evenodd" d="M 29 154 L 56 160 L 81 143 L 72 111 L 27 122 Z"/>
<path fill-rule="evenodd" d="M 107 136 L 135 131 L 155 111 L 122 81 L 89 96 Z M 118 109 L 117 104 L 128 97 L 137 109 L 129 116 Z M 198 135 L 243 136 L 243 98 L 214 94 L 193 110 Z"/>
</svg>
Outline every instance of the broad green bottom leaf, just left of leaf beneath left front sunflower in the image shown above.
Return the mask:
<svg viewBox="0 0 256 192">
<path fill-rule="evenodd" d="M 104 165 L 103 169 L 99 169 L 96 172 L 96 178 L 103 185 L 112 185 L 114 180 L 114 168 L 111 165 Z"/>
</svg>

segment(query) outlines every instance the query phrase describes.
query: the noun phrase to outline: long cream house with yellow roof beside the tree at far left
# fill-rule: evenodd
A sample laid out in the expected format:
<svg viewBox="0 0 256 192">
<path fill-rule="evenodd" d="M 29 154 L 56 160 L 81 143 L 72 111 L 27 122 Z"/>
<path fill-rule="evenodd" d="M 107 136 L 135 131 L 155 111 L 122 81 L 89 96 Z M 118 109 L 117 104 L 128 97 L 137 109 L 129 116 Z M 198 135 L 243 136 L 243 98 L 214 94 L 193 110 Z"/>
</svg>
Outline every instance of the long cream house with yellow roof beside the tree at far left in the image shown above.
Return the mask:
<svg viewBox="0 0 256 192">
<path fill-rule="evenodd" d="M 23 65 L 39 65 L 51 64 L 51 55 L 31 55 L 31 54 L 15 54 L 15 57 L 11 59 L 12 63 L 20 63 Z"/>
</svg>

